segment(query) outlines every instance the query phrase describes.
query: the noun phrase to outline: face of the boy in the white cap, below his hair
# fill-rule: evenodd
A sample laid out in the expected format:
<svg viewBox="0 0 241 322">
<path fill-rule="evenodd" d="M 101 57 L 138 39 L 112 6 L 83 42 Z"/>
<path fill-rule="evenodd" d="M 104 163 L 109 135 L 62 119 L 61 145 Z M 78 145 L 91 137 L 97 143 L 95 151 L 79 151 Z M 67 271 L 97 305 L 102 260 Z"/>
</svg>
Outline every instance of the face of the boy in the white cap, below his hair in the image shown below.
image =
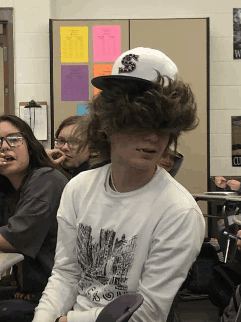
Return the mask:
<svg viewBox="0 0 241 322">
<path fill-rule="evenodd" d="M 122 131 L 110 135 L 111 162 L 126 168 L 155 169 L 169 140 L 169 134 L 151 131 Z"/>
</svg>

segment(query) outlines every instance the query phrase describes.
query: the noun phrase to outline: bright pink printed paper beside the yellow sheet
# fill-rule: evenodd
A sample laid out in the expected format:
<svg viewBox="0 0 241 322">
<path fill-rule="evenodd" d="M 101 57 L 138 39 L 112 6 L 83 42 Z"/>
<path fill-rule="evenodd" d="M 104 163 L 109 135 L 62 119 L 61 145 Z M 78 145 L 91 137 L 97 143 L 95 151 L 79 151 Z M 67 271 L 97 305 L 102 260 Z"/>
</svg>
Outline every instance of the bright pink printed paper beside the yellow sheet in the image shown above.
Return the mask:
<svg viewBox="0 0 241 322">
<path fill-rule="evenodd" d="M 93 26 L 94 62 L 114 62 L 122 53 L 121 26 Z"/>
</svg>

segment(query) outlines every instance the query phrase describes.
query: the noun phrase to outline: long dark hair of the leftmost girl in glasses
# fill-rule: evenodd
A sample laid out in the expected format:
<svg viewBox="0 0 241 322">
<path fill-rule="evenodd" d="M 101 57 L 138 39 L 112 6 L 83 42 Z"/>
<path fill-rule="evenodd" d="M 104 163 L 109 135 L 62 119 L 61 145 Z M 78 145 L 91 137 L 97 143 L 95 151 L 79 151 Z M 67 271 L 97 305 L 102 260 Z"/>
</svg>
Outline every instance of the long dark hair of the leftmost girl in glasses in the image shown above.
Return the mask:
<svg viewBox="0 0 241 322">
<path fill-rule="evenodd" d="M 59 165 L 56 165 L 51 161 L 48 157 L 47 153 L 43 145 L 37 140 L 34 136 L 34 133 L 28 123 L 23 121 L 21 118 L 15 115 L 2 115 L 0 116 L 0 123 L 2 122 L 9 122 L 15 127 L 19 129 L 19 132 L 24 134 L 24 138 L 27 142 L 28 152 L 29 152 L 29 167 L 28 167 L 28 174 L 24 178 L 22 185 L 26 182 L 26 180 L 32 175 L 33 171 L 39 168 L 52 168 L 59 170 L 60 172 L 64 173 Z M 0 175 L 1 185 L 0 191 L 6 193 L 8 189 L 11 189 L 11 183 L 3 175 Z M 21 185 L 21 187 L 22 187 Z M 19 188 L 19 190 L 21 189 Z M 12 190 L 12 189 L 11 189 Z"/>
</svg>

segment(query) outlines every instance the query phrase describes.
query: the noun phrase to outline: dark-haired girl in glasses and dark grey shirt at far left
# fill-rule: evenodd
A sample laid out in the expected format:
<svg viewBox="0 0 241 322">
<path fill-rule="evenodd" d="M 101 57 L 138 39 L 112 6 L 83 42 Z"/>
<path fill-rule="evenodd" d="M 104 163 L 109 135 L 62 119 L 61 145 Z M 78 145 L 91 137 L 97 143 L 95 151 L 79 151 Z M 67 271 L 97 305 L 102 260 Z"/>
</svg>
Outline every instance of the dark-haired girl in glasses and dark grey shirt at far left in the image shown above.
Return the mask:
<svg viewBox="0 0 241 322">
<path fill-rule="evenodd" d="M 0 117 L 0 251 L 25 257 L 14 294 L 19 301 L 37 305 L 51 275 L 56 213 L 68 182 L 61 172 L 25 121 L 13 115 Z M 0 320 L 11 321 L 11 310 L 5 313 L 9 315 L 0 315 Z"/>
</svg>

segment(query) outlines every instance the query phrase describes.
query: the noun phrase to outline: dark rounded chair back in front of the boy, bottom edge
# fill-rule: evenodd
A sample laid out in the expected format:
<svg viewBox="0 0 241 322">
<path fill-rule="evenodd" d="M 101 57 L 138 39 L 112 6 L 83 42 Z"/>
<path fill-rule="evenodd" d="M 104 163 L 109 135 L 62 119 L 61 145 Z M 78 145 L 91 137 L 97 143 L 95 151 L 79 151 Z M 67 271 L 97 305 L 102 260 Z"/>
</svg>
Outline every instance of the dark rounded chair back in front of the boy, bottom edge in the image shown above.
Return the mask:
<svg viewBox="0 0 241 322">
<path fill-rule="evenodd" d="M 108 303 L 99 313 L 95 322 L 127 322 L 143 303 L 143 296 L 130 292 Z"/>
</svg>

